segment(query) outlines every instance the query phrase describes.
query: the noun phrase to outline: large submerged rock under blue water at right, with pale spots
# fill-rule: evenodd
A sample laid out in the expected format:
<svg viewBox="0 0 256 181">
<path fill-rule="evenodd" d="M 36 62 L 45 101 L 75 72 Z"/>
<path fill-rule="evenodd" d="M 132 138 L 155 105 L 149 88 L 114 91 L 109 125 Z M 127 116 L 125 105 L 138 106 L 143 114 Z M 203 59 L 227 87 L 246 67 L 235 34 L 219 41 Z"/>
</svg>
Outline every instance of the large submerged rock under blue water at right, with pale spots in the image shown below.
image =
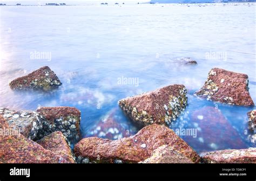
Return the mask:
<svg viewBox="0 0 256 181">
<path fill-rule="evenodd" d="M 192 113 L 190 123 L 190 128 L 197 129 L 197 135 L 186 136 L 184 140 L 194 148 L 204 151 L 247 148 L 219 109 L 210 106 L 198 109 Z"/>
</svg>

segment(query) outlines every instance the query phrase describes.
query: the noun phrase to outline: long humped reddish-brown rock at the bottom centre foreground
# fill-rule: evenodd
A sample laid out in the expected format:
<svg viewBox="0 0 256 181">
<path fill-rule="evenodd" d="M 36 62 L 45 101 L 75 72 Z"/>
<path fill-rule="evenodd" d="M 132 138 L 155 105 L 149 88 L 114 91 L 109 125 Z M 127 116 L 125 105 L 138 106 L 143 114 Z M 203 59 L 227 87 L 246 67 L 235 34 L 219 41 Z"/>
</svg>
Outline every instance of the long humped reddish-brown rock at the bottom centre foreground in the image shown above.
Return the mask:
<svg viewBox="0 0 256 181">
<path fill-rule="evenodd" d="M 193 163 L 200 160 L 196 151 L 173 130 L 159 124 L 144 127 L 136 135 L 120 140 L 83 138 L 75 145 L 74 152 L 77 157 L 89 158 L 96 163 L 138 163 L 151 157 L 155 149 L 165 144 L 191 159 Z"/>
</svg>

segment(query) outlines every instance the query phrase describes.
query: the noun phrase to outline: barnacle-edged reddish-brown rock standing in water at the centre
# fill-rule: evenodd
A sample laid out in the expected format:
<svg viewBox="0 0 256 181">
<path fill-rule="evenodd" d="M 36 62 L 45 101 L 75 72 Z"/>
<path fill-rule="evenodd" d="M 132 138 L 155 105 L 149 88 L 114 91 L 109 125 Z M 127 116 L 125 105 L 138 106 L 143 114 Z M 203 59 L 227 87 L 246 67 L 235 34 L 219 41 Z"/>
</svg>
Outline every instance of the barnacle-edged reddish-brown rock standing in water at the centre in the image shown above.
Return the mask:
<svg viewBox="0 0 256 181">
<path fill-rule="evenodd" d="M 186 92 L 183 85 L 171 85 L 122 99 L 118 104 L 126 115 L 141 126 L 170 124 L 185 110 Z"/>
</svg>

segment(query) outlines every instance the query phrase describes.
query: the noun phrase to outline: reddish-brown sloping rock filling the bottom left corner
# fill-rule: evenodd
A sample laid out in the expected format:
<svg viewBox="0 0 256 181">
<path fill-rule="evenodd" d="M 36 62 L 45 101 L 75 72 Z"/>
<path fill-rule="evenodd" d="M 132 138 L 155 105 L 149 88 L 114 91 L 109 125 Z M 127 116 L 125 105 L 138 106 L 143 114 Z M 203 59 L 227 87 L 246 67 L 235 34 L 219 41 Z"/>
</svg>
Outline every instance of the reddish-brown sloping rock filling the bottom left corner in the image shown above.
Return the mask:
<svg viewBox="0 0 256 181">
<path fill-rule="evenodd" d="M 41 145 L 14 133 L 8 123 L 0 115 L 0 130 L 6 134 L 0 135 L 0 162 L 1 163 L 69 163 L 59 155 L 44 149 Z M 8 131 L 6 131 L 8 130 Z"/>
</svg>

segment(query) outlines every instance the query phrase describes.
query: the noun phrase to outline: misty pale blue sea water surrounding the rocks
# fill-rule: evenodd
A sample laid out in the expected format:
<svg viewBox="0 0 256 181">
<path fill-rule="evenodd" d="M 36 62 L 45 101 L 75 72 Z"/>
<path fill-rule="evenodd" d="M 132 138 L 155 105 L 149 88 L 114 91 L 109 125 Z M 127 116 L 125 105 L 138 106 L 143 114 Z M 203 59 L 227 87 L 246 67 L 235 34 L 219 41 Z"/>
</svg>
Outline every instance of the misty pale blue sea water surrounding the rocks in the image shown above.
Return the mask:
<svg viewBox="0 0 256 181">
<path fill-rule="evenodd" d="M 1 107 L 75 106 L 82 112 L 83 137 L 99 135 L 97 125 L 111 120 L 120 138 L 138 128 L 124 116 L 118 100 L 179 83 L 188 89 L 188 106 L 171 128 L 208 130 L 208 138 L 200 138 L 200 131 L 196 138 L 181 136 L 191 147 L 198 152 L 255 147 L 246 116 L 253 108 L 218 104 L 226 121 L 211 129 L 193 118 L 197 110 L 200 117 L 202 108 L 215 108 L 193 96 L 213 67 L 247 74 L 256 102 L 255 4 L 0 6 L 0 12 Z M 49 53 L 50 58 L 31 58 L 35 52 Z M 219 56 L 209 58 L 213 52 Z M 198 65 L 180 65 L 181 57 L 191 57 Z M 59 89 L 48 94 L 11 91 L 11 80 L 45 65 L 62 81 Z M 139 84 L 120 85 L 122 76 Z M 216 139 L 220 133 L 226 136 Z"/>
</svg>

